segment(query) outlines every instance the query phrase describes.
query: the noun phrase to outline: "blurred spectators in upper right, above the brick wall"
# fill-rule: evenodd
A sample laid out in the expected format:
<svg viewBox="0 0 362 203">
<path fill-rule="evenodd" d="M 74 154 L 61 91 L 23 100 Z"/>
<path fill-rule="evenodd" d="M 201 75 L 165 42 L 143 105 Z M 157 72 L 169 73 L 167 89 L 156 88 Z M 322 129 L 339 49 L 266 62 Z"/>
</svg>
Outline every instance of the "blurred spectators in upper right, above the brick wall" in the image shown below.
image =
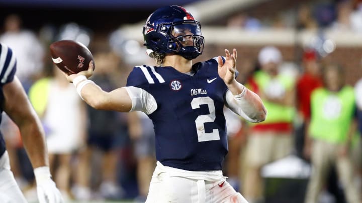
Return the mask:
<svg viewBox="0 0 362 203">
<path fill-rule="evenodd" d="M 264 13 L 272 16 L 265 18 L 250 10 L 241 11 L 228 19 L 227 26 L 241 27 L 249 31 L 293 28 L 362 32 L 360 0 L 304 1 L 283 12 L 274 13 L 273 10 L 268 10 Z"/>
</svg>

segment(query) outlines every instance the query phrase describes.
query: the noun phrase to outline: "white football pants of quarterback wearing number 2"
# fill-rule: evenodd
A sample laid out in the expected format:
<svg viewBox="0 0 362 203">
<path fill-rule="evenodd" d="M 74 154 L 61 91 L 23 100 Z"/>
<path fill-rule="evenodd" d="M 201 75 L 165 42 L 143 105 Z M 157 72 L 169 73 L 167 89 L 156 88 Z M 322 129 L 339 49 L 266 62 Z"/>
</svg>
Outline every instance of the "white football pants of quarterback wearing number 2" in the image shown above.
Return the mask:
<svg viewBox="0 0 362 203">
<path fill-rule="evenodd" d="M 188 171 L 157 161 L 146 203 L 248 203 L 222 171 Z"/>
</svg>

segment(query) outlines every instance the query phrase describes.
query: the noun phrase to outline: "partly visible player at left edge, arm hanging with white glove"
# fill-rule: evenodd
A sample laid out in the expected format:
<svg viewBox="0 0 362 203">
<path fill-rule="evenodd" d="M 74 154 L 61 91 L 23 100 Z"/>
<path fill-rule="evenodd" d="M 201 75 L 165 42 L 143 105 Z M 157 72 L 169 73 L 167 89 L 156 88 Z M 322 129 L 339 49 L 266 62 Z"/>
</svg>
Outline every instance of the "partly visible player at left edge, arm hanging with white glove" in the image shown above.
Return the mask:
<svg viewBox="0 0 362 203">
<path fill-rule="evenodd" d="M 0 122 L 1 113 L 5 112 L 20 129 L 25 149 L 34 168 L 39 202 L 64 202 L 55 182 L 51 179 L 41 122 L 15 73 L 16 57 L 11 48 L 0 43 Z M 10 169 L 9 155 L 1 133 L 0 202 L 27 202 Z"/>
</svg>

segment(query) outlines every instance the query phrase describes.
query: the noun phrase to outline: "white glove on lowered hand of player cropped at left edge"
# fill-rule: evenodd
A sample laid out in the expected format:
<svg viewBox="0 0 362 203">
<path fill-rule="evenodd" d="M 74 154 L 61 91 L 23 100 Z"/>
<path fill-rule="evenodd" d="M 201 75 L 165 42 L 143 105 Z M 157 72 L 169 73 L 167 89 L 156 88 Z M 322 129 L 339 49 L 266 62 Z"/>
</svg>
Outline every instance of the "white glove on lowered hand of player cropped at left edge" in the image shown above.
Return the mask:
<svg viewBox="0 0 362 203">
<path fill-rule="evenodd" d="M 41 166 L 34 169 L 37 182 L 38 200 L 40 203 L 63 203 L 64 199 L 51 179 L 48 166 Z"/>
</svg>

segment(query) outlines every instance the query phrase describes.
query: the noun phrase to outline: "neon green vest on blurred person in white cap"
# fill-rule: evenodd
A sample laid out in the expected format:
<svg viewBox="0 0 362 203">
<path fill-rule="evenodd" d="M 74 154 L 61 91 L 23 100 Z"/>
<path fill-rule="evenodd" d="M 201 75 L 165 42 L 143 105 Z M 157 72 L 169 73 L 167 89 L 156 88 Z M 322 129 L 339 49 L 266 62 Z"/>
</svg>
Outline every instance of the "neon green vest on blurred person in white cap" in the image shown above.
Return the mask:
<svg viewBox="0 0 362 203">
<path fill-rule="evenodd" d="M 272 78 L 264 71 L 258 71 L 254 75 L 255 82 L 259 88 L 259 91 L 263 91 Z M 283 74 L 279 74 L 276 78 L 286 90 L 294 88 L 295 81 L 292 77 L 288 77 Z M 293 122 L 296 110 L 294 107 L 284 106 L 273 102 L 262 100 L 267 110 L 267 116 L 265 121 L 260 124 L 267 123 L 280 123 L 280 122 Z"/>
</svg>

